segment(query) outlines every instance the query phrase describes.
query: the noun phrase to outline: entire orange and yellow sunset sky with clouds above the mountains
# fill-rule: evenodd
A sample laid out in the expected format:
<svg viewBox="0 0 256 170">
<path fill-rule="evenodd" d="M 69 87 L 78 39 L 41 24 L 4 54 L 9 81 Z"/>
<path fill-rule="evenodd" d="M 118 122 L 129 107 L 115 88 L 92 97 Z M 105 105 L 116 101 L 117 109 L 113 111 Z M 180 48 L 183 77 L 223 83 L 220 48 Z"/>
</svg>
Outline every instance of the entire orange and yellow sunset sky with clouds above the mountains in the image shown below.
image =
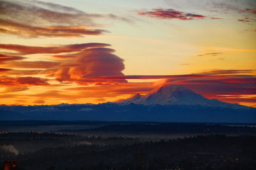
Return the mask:
<svg viewBox="0 0 256 170">
<path fill-rule="evenodd" d="M 256 107 L 256 1 L 0 0 L 0 104 L 117 102 L 166 84 Z"/>
</svg>

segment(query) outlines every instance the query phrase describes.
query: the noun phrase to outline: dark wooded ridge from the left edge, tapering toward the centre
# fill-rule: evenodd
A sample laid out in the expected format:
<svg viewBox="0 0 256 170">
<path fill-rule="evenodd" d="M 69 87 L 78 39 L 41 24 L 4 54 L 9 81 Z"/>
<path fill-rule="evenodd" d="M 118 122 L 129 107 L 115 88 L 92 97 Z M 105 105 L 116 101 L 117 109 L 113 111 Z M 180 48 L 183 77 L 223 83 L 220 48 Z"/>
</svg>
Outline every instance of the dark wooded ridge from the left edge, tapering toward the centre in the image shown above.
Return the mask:
<svg viewBox="0 0 256 170">
<path fill-rule="evenodd" d="M 55 134 L 52 132 L 19 132 L 19 133 L 5 133 L 0 134 L 0 146 L 12 145 L 19 153 L 31 153 L 41 150 L 42 148 L 58 148 L 60 146 L 77 146 L 79 144 L 85 145 L 99 145 L 106 146 L 112 144 L 134 144 L 138 143 L 140 139 L 131 137 L 101 137 L 97 135 L 68 135 Z M 4 153 L 3 150 L 0 152 Z"/>
</svg>

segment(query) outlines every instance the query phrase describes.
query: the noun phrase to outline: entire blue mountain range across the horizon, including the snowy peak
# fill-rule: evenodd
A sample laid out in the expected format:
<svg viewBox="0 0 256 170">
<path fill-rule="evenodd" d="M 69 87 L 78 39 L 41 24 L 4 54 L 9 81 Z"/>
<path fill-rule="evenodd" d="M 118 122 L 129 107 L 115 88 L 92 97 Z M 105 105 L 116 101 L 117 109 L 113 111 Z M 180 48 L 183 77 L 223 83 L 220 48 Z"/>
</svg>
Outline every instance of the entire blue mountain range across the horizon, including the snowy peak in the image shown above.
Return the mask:
<svg viewBox="0 0 256 170">
<path fill-rule="evenodd" d="M 182 85 L 104 104 L 0 105 L 0 120 L 256 123 L 256 108 L 207 99 Z"/>
</svg>

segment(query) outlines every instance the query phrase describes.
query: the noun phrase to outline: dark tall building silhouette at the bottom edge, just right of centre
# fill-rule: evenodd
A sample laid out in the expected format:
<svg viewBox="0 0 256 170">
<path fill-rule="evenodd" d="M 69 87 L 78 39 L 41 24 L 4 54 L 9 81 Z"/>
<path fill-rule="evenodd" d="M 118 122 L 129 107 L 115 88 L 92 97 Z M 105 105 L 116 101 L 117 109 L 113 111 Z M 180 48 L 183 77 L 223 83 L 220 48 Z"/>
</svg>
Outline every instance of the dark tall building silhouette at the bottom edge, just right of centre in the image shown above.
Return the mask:
<svg viewBox="0 0 256 170">
<path fill-rule="evenodd" d="M 133 165 L 136 170 L 147 170 L 149 167 L 148 153 L 133 153 Z"/>
</svg>

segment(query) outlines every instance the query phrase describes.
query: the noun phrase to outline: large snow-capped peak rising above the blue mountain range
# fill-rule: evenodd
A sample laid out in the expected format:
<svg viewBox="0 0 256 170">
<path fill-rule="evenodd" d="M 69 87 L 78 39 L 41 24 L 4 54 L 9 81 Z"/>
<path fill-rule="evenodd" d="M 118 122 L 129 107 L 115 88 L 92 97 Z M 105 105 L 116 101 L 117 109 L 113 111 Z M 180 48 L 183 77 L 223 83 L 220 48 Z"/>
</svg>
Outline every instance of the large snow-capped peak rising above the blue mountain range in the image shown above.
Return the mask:
<svg viewBox="0 0 256 170">
<path fill-rule="evenodd" d="M 144 105 L 205 105 L 227 107 L 232 104 L 220 102 L 216 99 L 208 99 L 191 91 L 182 85 L 169 85 L 159 88 L 155 93 L 148 95 L 136 94 L 134 97 L 124 100 L 122 104 L 144 104 Z"/>
</svg>

